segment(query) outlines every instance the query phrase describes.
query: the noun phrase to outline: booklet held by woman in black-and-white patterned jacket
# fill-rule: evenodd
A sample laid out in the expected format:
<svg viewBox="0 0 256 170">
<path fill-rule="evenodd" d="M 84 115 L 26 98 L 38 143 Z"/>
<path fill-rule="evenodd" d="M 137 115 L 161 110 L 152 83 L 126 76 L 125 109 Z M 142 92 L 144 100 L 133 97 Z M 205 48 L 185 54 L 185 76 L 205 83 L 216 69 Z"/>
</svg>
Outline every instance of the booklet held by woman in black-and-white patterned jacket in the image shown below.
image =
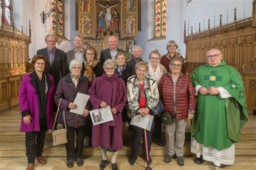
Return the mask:
<svg viewBox="0 0 256 170">
<path fill-rule="evenodd" d="M 135 115 L 132 118 L 130 125 L 138 126 L 138 127 L 144 128 L 147 131 L 150 131 L 153 123 L 153 119 L 154 119 L 154 116 L 150 114 L 147 114 L 144 117 L 142 117 L 141 115 Z"/>
</svg>

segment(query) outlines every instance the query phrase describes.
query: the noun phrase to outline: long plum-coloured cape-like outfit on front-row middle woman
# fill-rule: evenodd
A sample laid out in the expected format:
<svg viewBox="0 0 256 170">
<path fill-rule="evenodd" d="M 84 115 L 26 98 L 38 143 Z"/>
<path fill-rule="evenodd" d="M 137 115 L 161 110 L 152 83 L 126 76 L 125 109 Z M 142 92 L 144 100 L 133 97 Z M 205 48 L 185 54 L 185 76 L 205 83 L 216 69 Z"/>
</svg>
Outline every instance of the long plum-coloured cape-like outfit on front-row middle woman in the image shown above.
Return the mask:
<svg viewBox="0 0 256 170">
<path fill-rule="evenodd" d="M 100 108 L 102 101 L 110 105 L 110 108 L 117 109 L 117 113 L 113 114 L 113 121 L 92 127 L 92 147 L 123 149 L 122 111 L 127 100 L 124 81 L 117 74 L 107 77 L 104 73 L 93 80 L 88 93 L 93 109 Z"/>
</svg>

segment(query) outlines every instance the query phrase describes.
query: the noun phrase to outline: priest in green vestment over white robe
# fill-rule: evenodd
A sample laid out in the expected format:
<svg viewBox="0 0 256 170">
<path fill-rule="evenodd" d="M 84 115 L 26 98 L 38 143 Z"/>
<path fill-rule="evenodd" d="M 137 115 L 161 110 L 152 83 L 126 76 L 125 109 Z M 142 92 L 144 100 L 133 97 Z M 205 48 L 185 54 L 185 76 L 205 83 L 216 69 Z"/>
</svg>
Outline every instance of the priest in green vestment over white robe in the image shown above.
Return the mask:
<svg viewBox="0 0 256 170">
<path fill-rule="evenodd" d="M 222 59 L 219 49 L 208 50 L 208 63 L 191 75 L 197 95 L 191 122 L 194 162 L 201 164 L 204 159 L 220 168 L 234 164 L 234 143 L 240 141 L 240 130 L 248 120 L 242 78 Z"/>
</svg>

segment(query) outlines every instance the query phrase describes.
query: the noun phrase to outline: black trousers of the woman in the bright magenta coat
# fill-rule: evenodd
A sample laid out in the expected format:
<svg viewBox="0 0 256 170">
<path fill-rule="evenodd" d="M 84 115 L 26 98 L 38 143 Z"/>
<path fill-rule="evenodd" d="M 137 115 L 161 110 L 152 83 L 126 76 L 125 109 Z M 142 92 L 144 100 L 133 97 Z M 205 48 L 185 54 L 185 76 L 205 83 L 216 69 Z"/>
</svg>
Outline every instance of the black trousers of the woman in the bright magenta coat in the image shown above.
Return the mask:
<svg viewBox="0 0 256 170">
<path fill-rule="evenodd" d="M 28 163 L 35 162 L 36 157 L 40 157 L 43 153 L 46 125 L 40 126 L 41 132 L 26 132 L 26 157 Z"/>
</svg>

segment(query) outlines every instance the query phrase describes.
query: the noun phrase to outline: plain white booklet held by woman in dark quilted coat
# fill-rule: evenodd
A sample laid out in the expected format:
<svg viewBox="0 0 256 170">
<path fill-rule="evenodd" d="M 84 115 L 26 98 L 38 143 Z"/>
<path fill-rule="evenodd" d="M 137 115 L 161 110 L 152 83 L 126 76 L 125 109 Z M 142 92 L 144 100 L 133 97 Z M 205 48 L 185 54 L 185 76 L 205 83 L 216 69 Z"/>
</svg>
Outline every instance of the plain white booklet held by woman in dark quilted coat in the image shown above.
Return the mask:
<svg viewBox="0 0 256 170">
<path fill-rule="evenodd" d="M 76 109 L 70 109 L 71 113 L 83 114 L 84 108 L 89 100 L 90 96 L 83 93 L 77 93 L 77 96 L 73 103 L 77 105 Z"/>
</svg>

